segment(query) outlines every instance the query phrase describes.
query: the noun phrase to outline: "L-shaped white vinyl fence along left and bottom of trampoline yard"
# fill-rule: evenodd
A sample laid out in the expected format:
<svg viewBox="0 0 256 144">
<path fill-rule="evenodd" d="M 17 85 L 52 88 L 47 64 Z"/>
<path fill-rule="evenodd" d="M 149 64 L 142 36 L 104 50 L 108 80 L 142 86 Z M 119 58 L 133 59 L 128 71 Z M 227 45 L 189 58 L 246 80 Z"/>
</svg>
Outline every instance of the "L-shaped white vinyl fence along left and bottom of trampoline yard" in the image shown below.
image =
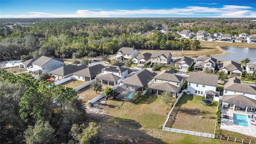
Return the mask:
<svg viewBox="0 0 256 144">
<path fill-rule="evenodd" d="M 163 130 L 169 131 L 169 132 L 178 132 L 178 133 L 182 133 L 182 134 L 191 134 L 191 135 L 195 135 L 195 136 L 204 136 L 204 137 L 208 137 L 208 138 L 215 138 L 214 134 L 208 134 L 208 133 L 202 133 L 202 132 L 194 132 L 194 131 L 190 131 L 190 130 L 180 130 L 180 129 L 176 129 L 176 128 L 166 128 L 166 123 L 168 122 L 170 115 L 174 109 L 174 107 L 176 106 L 178 100 L 181 98 L 181 96 L 183 95 L 183 93 L 186 92 L 186 90 L 183 90 L 180 95 L 178 96 L 176 102 L 174 103 L 174 105 L 172 106 L 172 110 L 170 111 L 170 113 L 168 114 L 168 117 L 166 119 L 166 121 L 164 122 L 164 126 L 163 126 Z"/>
</svg>

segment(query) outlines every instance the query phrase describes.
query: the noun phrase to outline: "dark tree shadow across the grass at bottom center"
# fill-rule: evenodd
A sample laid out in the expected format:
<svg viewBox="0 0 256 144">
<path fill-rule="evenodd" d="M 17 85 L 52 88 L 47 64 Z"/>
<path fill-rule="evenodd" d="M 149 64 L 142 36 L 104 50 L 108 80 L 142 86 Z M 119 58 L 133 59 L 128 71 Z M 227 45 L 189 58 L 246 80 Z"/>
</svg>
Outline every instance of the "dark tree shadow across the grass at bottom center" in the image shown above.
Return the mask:
<svg viewBox="0 0 256 144">
<path fill-rule="evenodd" d="M 138 142 L 164 144 L 161 139 L 150 136 L 144 130 L 140 130 L 142 125 L 135 120 L 98 114 L 90 115 L 89 119 L 101 126 L 102 140 L 105 144 L 114 144 L 122 141 L 126 144 L 135 144 Z"/>
</svg>

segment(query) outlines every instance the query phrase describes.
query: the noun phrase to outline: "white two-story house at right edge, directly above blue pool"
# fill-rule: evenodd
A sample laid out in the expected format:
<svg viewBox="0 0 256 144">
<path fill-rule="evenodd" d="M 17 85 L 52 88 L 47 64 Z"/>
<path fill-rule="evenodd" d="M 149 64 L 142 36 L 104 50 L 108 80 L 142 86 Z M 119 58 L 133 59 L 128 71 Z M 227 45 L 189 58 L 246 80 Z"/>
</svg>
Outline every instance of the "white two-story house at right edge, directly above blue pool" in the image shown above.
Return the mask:
<svg viewBox="0 0 256 144">
<path fill-rule="evenodd" d="M 241 81 L 236 77 L 225 80 L 222 108 L 224 106 L 232 107 L 233 110 L 238 106 L 246 113 L 248 111 L 256 112 L 256 87 L 241 84 Z"/>
</svg>

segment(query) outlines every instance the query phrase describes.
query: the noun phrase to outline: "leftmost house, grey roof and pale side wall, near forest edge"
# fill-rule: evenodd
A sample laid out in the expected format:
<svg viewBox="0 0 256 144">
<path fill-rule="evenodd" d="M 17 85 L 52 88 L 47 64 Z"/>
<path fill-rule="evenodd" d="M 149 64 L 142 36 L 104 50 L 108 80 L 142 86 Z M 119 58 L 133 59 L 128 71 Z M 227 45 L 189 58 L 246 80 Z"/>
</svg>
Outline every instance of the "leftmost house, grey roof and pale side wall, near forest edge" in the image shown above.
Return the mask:
<svg viewBox="0 0 256 144">
<path fill-rule="evenodd" d="M 57 68 L 60 68 L 62 66 L 64 66 L 64 61 L 62 60 L 62 58 L 56 59 L 49 58 L 47 56 L 41 56 L 40 58 L 32 62 L 32 68 L 29 68 L 28 70 L 30 72 L 35 72 L 36 74 L 41 74 L 56 70 Z"/>
</svg>

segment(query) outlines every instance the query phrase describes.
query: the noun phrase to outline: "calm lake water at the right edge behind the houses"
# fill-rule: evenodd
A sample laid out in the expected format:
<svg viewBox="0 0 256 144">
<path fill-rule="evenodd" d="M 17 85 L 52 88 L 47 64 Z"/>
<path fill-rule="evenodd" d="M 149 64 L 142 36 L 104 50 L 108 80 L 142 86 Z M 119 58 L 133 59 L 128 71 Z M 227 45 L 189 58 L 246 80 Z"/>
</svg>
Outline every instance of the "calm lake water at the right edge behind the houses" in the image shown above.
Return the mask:
<svg viewBox="0 0 256 144">
<path fill-rule="evenodd" d="M 213 58 L 216 58 L 217 60 L 232 60 L 240 62 L 241 60 L 249 58 L 249 60 L 251 60 L 250 62 L 256 62 L 256 48 L 242 48 L 234 46 L 221 46 L 220 48 L 228 54 L 213 56 Z"/>
</svg>

